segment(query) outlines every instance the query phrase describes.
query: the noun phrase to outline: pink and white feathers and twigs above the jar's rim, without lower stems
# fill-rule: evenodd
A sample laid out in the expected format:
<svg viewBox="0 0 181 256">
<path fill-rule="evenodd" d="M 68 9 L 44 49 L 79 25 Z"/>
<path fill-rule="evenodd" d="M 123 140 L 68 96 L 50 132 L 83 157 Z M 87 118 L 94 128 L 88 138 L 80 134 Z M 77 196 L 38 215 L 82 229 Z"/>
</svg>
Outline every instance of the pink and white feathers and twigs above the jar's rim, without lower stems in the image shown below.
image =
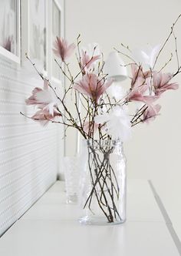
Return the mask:
<svg viewBox="0 0 181 256">
<path fill-rule="evenodd" d="M 127 89 L 125 95 L 123 95 L 121 85 L 120 88 L 114 85 L 114 79 L 104 72 L 105 62 L 98 45 L 92 45 L 92 49 L 80 49 L 81 41 L 78 36 L 76 58 L 79 71 L 73 76 L 67 59 L 74 52 L 76 45 L 74 43 L 68 45 L 65 39 L 57 38 L 53 51 L 59 59 L 55 59 L 55 62 L 69 85 L 64 89 L 64 95 L 59 96 L 56 88 L 36 69 L 35 63 L 32 63 L 43 79 L 43 88 L 35 87 L 32 95 L 26 99 L 27 105 L 35 105 L 38 109 L 31 119 L 38 120 L 43 125 L 51 122 L 74 127 L 87 140 L 95 138 L 125 140 L 130 133 L 130 127 L 154 120 L 160 113 L 161 106 L 157 104 L 160 96 L 167 90 L 177 89 L 179 86 L 178 83 L 172 82 L 173 78 L 181 72 L 177 46 L 175 50 L 178 62 L 176 71 L 173 73 L 163 72 L 173 55 L 162 69 L 155 69 L 160 53 L 171 35 L 176 41 L 173 31 L 176 22 L 173 23 L 171 32 L 163 45 L 148 46 L 146 49 L 131 52 L 128 46 L 121 44 L 130 52 L 130 55 L 119 50 L 117 52 L 130 59 L 125 66 L 130 66 L 132 73 L 129 77 L 130 89 Z M 66 105 L 66 99 L 73 95 L 74 106 L 72 107 L 75 111 Z M 128 114 L 127 106 L 135 102 L 142 103 L 140 109 L 137 109 L 135 113 Z M 72 113 L 75 113 L 75 116 Z"/>
</svg>

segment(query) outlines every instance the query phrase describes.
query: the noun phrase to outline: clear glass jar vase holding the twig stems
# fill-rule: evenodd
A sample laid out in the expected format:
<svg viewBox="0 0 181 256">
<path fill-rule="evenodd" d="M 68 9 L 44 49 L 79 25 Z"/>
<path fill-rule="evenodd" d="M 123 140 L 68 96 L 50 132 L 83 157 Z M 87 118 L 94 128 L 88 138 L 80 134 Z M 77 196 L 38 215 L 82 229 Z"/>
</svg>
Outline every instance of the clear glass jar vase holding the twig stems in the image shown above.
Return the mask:
<svg viewBox="0 0 181 256">
<path fill-rule="evenodd" d="M 120 140 L 85 140 L 82 148 L 81 224 L 126 221 L 126 160 Z"/>
</svg>

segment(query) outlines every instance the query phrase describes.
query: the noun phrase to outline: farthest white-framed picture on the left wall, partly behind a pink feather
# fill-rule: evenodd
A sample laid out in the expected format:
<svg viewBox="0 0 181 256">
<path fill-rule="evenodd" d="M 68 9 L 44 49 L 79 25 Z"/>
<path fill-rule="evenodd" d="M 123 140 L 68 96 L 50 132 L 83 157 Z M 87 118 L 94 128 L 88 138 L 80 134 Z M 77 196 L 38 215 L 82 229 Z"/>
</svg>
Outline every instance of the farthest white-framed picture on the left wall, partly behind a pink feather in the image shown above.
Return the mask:
<svg viewBox="0 0 181 256">
<path fill-rule="evenodd" d="M 56 40 L 56 37 L 62 36 L 62 22 L 61 22 L 61 6 L 58 4 L 57 1 L 52 1 L 52 48 L 54 47 L 54 42 Z M 61 70 L 58 67 L 58 64 L 54 61 L 54 59 L 57 59 L 56 56 L 54 56 L 54 53 L 52 52 L 52 76 L 54 79 L 61 79 Z"/>
</svg>

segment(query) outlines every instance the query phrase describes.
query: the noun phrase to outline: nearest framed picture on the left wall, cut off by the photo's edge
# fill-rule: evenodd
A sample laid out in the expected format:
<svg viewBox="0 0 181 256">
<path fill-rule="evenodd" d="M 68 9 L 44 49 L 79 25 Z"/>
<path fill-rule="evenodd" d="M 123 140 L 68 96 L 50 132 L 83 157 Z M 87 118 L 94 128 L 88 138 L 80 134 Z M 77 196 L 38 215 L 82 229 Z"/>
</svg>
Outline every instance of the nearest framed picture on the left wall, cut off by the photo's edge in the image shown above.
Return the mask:
<svg viewBox="0 0 181 256">
<path fill-rule="evenodd" d="M 20 0 L 1 0 L 0 11 L 0 54 L 20 62 Z"/>
</svg>

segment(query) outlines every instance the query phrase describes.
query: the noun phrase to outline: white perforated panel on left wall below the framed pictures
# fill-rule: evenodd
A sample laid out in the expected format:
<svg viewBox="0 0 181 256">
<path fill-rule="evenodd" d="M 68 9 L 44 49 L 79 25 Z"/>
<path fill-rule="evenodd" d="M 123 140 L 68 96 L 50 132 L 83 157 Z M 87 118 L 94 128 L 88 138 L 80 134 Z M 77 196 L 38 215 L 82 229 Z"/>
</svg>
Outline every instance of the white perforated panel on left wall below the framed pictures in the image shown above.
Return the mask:
<svg viewBox="0 0 181 256">
<path fill-rule="evenodd" d="M 0 57 L 0 235 L 57 178 L 58 126 L 40 126 L 25 98 L 42 83 Z"/>
</svg>

